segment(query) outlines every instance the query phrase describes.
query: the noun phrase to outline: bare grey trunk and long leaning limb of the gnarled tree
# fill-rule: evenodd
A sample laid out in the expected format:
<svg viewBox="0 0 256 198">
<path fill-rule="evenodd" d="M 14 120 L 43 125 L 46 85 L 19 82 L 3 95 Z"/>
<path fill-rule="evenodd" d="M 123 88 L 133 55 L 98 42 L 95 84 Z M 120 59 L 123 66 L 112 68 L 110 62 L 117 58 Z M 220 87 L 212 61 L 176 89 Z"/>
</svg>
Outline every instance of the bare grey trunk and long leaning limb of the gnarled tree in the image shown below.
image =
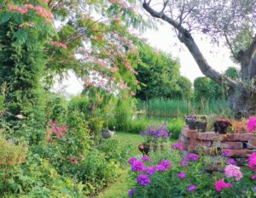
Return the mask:
<svg viewBox="0 0 256 198">
<path fill-rule="evenodd" d="M 164 8 L 158 12 L 150 7 L 150 2 L 151 1 L 148 1 L 147 3 L 146 0 L 144 0 L 143 8 L 153 17 L 165 20 L 172 25 L 177 31 L 179 41 L 183 42 L 189 49 L 190 54 L 194 57 L 201 72 L 214 82 L 217 82 L 220 86 L 225 84 L 228 87 L 230 108 L 233 110 L 234 116 L 239 118 L 241 116 L 256 114 L 256 88 L 253 88 L 255 84 L 248 83 L 253 82 L 256 76 L 256 37 L 253 38 L 251 46 L 247 48 L 246 51 L 241 51 L 239 54 L 241 82 L 236 82 L 221 75 L 208 65 L 207 60 L 204 58 L 189 30 L 185 29 L 181 23 L 177 23 L 176 20 L 173 20 L 164 13 L 166 4 L 164 4 Z M 168 1 L 166 1 L 166 3 L 168 3 Z"/>
</svg>

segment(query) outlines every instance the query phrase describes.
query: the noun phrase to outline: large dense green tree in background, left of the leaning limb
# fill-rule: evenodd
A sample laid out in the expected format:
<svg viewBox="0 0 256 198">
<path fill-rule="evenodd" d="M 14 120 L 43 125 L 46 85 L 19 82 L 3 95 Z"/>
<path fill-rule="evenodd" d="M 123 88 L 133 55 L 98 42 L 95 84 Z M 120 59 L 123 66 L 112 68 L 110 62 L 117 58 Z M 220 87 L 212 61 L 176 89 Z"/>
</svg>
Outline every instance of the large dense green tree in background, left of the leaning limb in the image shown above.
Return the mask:
<svg viewBox="0 0 256 198">
<path fill-rule="evenodd" d="M 179 73 L 179 62 L 170 54 L 157 51 L 146 43 L 138 49 L 137 81 L 143 86 L 137 91 L 138 99 L 166 98 L 187 99 L 191 82 Z"/>
</svg>

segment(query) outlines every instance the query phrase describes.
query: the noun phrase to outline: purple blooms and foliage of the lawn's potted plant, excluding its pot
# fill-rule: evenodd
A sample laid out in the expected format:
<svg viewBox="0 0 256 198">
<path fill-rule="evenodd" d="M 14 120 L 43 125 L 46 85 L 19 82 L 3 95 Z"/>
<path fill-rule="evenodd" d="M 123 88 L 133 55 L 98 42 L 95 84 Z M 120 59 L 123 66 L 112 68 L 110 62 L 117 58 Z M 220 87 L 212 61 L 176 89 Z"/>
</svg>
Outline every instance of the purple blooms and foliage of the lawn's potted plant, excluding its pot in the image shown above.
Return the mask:
<svg viewBox="0 0 256 198">
<path fill-rule="evenodd" d="M 169 136 L 169 132 L 166 129 L 167 123 L 165 122 L 158 128 L 154 128 L 154 126 L 148 127 L 147 131 L 143 131 L 141 135 L 145 138 L 145 143 L 160 141 L 162 139 L 167 139 Z"/>
</svg>

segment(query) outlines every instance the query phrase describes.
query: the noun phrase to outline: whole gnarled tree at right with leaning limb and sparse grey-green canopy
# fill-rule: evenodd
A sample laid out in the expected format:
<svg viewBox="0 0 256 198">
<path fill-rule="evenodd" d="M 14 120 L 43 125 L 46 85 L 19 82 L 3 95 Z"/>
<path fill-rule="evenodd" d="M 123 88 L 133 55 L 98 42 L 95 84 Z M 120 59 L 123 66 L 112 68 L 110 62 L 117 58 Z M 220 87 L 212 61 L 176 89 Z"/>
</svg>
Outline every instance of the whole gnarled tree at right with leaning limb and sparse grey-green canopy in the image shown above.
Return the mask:
<svg viewBox="0 0 256 198">
<path fill-rule="evenodd" d="M 230 107 L 236 116 L 255 113 L 255 0 L 143 0 L 143 8 L 172 26 L 204 75 L 227 87 Z M 232 59 L 241 65 L 240 80 L 235 81 L 212 69 L 195 42 L 194 35 L 198 32 L 211 37 L 212 42 L 224 39 Z"/>
</svg>

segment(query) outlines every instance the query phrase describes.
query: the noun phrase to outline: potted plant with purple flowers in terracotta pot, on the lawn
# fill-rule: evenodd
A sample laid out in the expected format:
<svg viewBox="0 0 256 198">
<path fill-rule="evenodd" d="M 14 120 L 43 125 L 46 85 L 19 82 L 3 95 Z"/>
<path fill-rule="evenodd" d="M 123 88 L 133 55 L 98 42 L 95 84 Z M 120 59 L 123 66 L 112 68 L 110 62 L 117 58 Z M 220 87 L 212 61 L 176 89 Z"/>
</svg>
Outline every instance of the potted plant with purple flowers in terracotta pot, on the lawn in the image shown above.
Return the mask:
<svg viewBox="0 0 256 198">
<path fill-rule="evenodd" d="M 167 123 L 165 122 L 160 127 L 150 126 L 141 135 L 144 138 L 143 144 L 138 145 L 138 149 L 143 155 L 148 155 L 149 150 L 157 150 L 158 143 L 164 143 L 169 137 L 169 131 L 166 129 Z M 164 144 L 161 145 L 163 147 Z"/>
</svg>

